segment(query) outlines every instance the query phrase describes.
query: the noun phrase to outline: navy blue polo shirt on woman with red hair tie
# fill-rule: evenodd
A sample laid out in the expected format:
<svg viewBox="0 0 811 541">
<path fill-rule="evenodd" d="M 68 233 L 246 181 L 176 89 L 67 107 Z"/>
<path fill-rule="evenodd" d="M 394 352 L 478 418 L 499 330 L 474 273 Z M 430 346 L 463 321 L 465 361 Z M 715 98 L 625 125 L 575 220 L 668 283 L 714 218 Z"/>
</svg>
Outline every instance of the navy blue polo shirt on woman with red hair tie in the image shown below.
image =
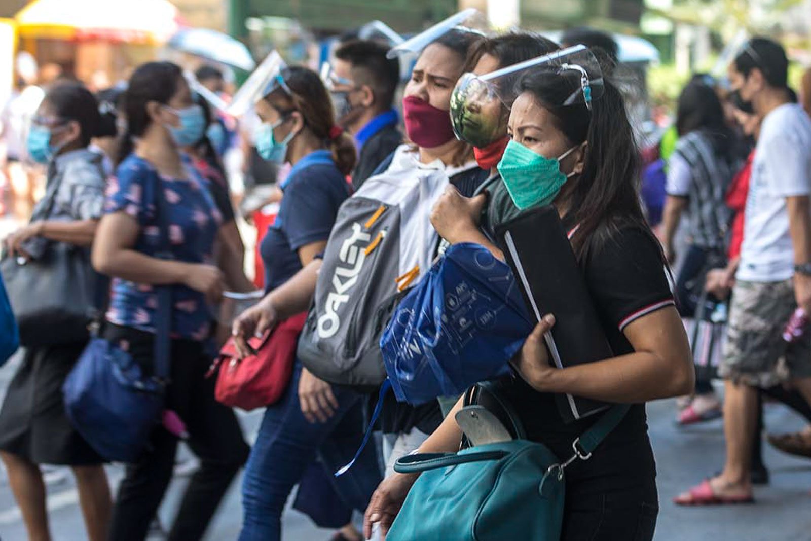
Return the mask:
<svg viewBox="0 0 811 541">
<path fill-rule="evenodd" d="M 267 291 L 301 270 L 300 247 L 329 238 L 338 208 L 350 196 L 350 185 L 328 150 L 316 150 L 299 160 L 281 190 L 279 213 L 260 247 Z"/>
</svg>

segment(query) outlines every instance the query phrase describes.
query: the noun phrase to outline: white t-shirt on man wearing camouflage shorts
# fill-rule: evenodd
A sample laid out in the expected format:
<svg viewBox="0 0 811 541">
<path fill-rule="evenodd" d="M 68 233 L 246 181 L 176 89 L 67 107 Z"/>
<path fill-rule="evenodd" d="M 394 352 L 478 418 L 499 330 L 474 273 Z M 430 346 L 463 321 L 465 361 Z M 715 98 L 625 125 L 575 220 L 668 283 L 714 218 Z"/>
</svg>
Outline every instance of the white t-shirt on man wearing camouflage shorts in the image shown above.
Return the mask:
<svg viewBox="0 0 811 541">
<path fill-rule="evenodd" d="M 794 274 L 786 198 L 811 194 L 811 119 L 796 104 L 763 119 L 746 199 L 737 278 L 783 281 Z"/>
</svg>

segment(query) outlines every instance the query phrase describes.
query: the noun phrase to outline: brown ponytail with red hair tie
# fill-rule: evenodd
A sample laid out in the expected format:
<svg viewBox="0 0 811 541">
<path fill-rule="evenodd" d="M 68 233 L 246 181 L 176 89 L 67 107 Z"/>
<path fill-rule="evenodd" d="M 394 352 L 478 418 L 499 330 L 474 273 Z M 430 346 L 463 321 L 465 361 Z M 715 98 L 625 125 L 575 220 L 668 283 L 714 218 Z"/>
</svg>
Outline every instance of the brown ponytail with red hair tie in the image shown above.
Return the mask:
<svg viewBox="0 0 811 541">
<path fill-rule="evenodd" d="M 283 88 L 277 88 L 264 99 L 276 109 L 294 109 L 301 113 L 304 125 L 322 140 L 324 148 L 333 153 L 338 170 L 342 174 L 350 174 L 358 161 L 358 154 L 349 134 L 341 132 L 337 135 L 334 131 L 333 101 L 329 99 L 327 88 L 319 75 L 299 66 L 285 68 L 281 75 L 293 96 Z"/>
</svg>

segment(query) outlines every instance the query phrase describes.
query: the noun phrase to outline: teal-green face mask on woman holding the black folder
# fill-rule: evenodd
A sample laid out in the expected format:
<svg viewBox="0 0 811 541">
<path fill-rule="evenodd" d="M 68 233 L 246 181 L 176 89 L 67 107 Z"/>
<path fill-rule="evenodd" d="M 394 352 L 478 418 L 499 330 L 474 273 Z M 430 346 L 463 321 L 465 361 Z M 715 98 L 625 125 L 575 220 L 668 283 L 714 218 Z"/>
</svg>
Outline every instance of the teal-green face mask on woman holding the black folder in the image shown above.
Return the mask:
<svg viewBox="0 0 811 541">
<path fill-rule="evenodd" d="M 564 174 L 560 170 L 560 160 L 578 146 L 569 148 L 557 158 L 547 158 L 511 140 L 496 168 L 515 206 L 524 210 L 555 200 L 566 180 L 575 175 L 574 172 Z"/>
</svg>

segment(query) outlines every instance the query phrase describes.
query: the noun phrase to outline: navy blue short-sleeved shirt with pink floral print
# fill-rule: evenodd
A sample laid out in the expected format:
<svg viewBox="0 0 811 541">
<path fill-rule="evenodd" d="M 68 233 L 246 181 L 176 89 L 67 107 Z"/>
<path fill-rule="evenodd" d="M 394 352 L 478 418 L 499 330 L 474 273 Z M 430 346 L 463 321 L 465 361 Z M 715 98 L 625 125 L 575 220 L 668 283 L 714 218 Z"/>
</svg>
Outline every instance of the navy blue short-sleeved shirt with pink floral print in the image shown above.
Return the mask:
<svg viewBox="0 0 811 541">
<path fill-rule="evenodd" d="M 105 213 L 127 213 L 141 232 L 134 249 L 146 255 L 160 251 L 160 229 L 156 197 L 165 198 L 169 214 L 169 244 L 174 260 L 212 264 L 214 239 L 222 223 L 206 180 L 184 161 L 187 178 L 167 178 L 143 158 L 131 154 L 111 178 Z M 156 194 L 160 189 L 161 193 Z M 204 341 L 208 337 L 211 313 L 204 294 L 187 286 L 172 286 L 173 337 Z M 115 278 L 107 320 L 110 323 L 155 332 L 157 292 L 148 284 Z"/>
</svg>

